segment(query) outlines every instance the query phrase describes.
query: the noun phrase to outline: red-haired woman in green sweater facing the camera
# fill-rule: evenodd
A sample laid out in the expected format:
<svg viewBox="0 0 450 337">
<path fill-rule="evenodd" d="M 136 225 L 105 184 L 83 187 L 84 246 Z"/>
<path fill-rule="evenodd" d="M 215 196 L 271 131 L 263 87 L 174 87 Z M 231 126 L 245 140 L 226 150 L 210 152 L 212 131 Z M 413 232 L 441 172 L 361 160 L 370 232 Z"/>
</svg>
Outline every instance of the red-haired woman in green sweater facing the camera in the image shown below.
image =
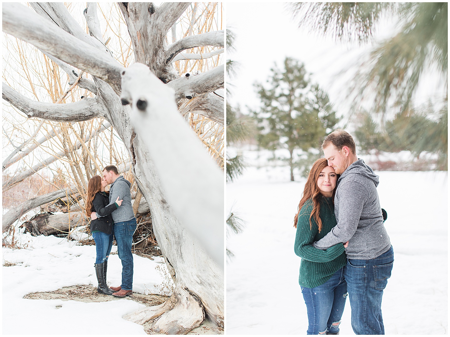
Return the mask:
<svg viewBox="0 0 450 337">
<path fill-rule="evenodd" d="M 333 202 L 337 181 L 338 174 L 328 166 L 327 160 L 316 160 L 294 218 L 297 228 L 294 251 L 302 257 L 298 283 L 308 313 L 308 335 L 339 334 L 347 297 L 343 268 L 347 264 L 348 242 L 327 250 L 312 245 L 337 224 Z"/>
</svg>

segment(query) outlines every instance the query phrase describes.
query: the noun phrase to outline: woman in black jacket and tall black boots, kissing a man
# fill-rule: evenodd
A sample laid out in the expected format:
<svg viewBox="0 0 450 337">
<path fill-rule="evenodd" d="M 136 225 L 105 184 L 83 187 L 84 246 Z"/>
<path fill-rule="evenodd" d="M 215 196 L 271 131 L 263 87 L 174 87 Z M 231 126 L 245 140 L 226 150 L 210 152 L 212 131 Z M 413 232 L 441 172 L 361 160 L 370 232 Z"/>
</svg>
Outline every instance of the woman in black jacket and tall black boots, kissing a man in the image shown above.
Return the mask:
<svg viewBox="0 0 450 337">
<path fill-rule="evenodd" d="M 97 276 L 97 292 L 104 295 L 112 295 L 113 291 L 106 284 L 106 271 L 108 269 L 108 256 L 112 248 L 112 221 L 111 213 L 122 204 L 117 197 L 116 202 L 109 205 L 108 192 L 105 187 L 106 180 L 99 175 L 94 175 L 87 185 L 87 198 L 85 212 L 90 218 L 91 212 L 97 212 L 101 217 L 90 222 L 90 232 L 95 241 L 97 257 L 95 259 L 95 274 Z"/>
</svg>

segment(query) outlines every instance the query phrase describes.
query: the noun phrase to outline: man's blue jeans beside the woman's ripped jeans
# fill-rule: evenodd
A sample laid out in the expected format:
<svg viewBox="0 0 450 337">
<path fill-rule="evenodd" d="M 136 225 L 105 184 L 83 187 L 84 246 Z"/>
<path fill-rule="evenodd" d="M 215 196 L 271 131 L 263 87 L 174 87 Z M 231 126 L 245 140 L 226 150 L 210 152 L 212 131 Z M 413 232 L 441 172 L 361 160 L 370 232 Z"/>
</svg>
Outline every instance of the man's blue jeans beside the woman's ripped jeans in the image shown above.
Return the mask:
<svg viewBox="0 0 450 337">
<path fill-rule="evenodd" d="M 345 267 L 351 327 L 357 335 L 384 335 L 381 300 L 391 277 L 394 250 L 370 260 L 348 259 Z"/>
</svg>

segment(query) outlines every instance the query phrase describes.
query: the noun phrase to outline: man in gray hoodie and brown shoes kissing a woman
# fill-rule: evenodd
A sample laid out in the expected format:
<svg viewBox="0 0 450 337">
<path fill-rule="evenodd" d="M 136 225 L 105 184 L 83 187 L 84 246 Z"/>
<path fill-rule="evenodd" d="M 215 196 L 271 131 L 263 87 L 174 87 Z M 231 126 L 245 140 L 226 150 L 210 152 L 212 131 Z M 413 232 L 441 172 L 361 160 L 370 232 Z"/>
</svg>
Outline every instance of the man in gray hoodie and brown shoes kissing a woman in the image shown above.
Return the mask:
<svg viewBox="0 0 450 337">
<path fill-rule="evenodd" d="M 131 205 L 131 183 L 123 175 L 119 175 L 116 166 L 109 165 L 103 169 L 103 178 L 110 184 L 109 203 L 113 203 L 117 197 L 123 199 L 121 206 L 111 213 L 114 221 L 114 237 L 117 241 L 117 252 L 122 262 L 122 284 L 119 287 L 109 287 L 115 292 L 116 297 L 125 297 L 132 294 L 133 288 L 133 255 L 131 245 L 133 234 L 136 230 L 136 218 Z M 114 198 L 114 199 L 113 199 Z M 94 220 L 99 215 L 91 213 Z"/>
</svg>

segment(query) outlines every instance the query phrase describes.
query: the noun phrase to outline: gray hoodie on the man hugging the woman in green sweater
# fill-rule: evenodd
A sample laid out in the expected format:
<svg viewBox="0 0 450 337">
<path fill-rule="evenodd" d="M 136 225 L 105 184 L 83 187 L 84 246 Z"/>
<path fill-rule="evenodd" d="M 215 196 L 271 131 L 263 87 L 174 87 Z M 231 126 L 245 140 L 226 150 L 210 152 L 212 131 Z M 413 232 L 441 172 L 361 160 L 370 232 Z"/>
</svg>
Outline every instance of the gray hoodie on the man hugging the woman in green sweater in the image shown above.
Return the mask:
<svg viewBox="0 0 450 337">
<path fill-rule="evenodd" d="M 358 260 L 387 252 L 391 242 L 378 199 L 378 175 L 360 159 L 347 167 L 337 184 L 334 214 L 338 224 L 314 247 L 325 250 L 349 241 L 347 258 Z"/>
</svg>

